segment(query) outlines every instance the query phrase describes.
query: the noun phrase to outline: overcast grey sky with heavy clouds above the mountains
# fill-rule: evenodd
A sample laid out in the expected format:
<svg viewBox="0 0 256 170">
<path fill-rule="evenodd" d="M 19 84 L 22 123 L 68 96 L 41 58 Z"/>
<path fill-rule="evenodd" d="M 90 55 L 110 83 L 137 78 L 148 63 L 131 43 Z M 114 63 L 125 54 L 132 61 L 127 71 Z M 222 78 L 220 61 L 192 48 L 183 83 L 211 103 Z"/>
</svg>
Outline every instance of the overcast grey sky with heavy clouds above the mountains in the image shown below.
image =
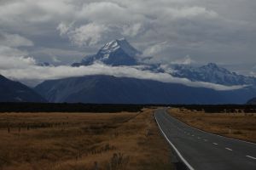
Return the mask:
<svg viewBox="0 0 256 170">
<path fill-rule="evenodd" d="M 0 73 L 69 65 L 125 37 L 156 61 L 256 76 L 255 8 L 255 0 L 0 0 Z"/>
</svg>

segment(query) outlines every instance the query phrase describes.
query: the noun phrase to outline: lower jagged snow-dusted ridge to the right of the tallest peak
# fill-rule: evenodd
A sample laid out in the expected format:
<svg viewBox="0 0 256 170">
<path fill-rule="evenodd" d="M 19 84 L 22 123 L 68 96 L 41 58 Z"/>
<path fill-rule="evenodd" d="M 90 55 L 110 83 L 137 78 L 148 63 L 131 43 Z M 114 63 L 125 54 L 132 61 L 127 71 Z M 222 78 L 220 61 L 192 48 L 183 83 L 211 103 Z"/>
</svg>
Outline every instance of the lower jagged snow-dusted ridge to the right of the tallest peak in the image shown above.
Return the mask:
<svg viewBox="0 0 256 170">
<path fill-rule="evenodd" d="M 171 73 L 172 76 L 188 78 L 191 81 L 212 82 L 227 86 L 256 84 L 255 77 L 238 75 L 235 72 L 230 72 L 214 63 L 209 63 L 200 67 L 191 65 L 172 65 L 171 67 L 173 70 Z"/>
</svg>

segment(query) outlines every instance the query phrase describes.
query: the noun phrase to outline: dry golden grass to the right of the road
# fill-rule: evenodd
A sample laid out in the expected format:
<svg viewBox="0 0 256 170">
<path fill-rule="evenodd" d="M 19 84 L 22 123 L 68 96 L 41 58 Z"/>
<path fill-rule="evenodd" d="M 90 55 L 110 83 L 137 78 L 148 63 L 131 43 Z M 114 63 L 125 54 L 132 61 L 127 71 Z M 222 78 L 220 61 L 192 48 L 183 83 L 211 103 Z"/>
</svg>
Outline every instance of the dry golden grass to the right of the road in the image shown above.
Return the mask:
<svg viewBox="0 0 256 170">
<path fill-rule="evenodd" d="M 190 126 L 235 139 L 256 143 L 256 114 L 205 113 L 171 108 L 169 113 Z"/>
</svg>

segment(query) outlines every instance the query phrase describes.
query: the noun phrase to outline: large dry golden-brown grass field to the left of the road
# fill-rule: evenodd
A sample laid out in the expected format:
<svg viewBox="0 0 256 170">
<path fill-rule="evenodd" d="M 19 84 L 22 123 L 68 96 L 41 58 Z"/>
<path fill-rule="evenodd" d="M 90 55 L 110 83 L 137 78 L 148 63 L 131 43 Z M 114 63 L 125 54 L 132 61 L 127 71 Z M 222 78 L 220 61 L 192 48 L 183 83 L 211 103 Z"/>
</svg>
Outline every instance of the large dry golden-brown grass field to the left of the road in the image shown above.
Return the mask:
<svg viewBox="0 0 256 170">
<path fill-rule="evenodd" d="M 142 113 L 0 113 L 0 169 L 170 169 L 170 149 Z"/>
</svg>

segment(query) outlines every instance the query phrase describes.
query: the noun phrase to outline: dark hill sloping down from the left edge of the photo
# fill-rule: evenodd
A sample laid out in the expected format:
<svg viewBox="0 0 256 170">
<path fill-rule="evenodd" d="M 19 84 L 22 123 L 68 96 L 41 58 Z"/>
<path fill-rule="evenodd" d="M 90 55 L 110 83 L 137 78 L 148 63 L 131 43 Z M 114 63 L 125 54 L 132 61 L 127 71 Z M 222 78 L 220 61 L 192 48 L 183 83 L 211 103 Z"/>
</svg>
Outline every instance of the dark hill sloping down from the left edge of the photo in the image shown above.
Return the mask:
<svg viewBox="0 0 256 170">
<path fill-rule="evenodd" d="M 31 88 L 0 75 L 0 102 L 46 102 Z"/>
</svg>

